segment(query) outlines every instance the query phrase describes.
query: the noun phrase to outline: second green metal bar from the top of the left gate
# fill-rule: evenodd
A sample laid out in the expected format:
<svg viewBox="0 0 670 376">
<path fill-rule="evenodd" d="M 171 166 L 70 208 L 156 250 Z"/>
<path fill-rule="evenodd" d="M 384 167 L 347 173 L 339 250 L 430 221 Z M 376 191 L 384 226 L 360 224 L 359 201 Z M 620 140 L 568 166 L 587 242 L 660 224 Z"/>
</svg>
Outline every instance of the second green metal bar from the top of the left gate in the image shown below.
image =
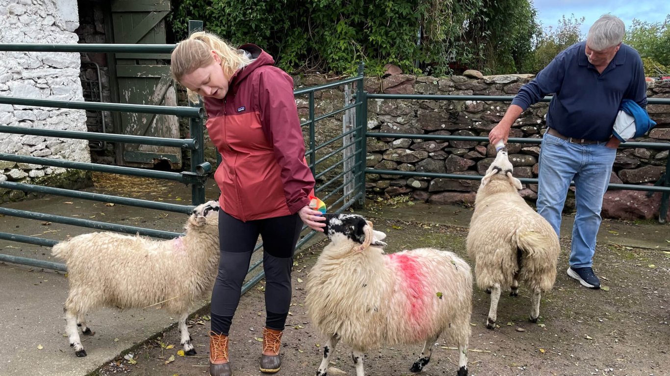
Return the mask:
<svg viewBox="0 0 670 376">
<path fill-rule="evenodd" d="M 175 115 L 187 118 L 204 117 L 204 108 L 185 106 L 153 106 L 149 104 L 72 102 L 69 100 L 20 98 L 0 96 L 0 104 L 18 104 L 20 106 L 72 108 L 74 110 L 139 112 L 141 114 Z"/>
</svg>

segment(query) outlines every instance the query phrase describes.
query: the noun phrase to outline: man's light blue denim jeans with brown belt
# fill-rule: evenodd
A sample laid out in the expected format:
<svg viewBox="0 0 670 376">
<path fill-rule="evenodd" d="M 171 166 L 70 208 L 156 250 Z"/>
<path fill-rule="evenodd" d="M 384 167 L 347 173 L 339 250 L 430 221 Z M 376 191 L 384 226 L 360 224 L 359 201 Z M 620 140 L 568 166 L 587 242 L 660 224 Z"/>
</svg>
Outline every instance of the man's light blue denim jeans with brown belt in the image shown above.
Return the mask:
<svg viewBox="0 0 670 376">
<path fill-rule="evenodd" d="M 560 236 L 561 211 L 570 181 L 574 180 L 577 214 L 569 260 L 573 268 L 593 265 L 602 197 L 610 182 L 614 158 L 616 149 L 605 143 L 573 144 L 548 133 L 542 138 L 537 212 Z"/>
</svg>

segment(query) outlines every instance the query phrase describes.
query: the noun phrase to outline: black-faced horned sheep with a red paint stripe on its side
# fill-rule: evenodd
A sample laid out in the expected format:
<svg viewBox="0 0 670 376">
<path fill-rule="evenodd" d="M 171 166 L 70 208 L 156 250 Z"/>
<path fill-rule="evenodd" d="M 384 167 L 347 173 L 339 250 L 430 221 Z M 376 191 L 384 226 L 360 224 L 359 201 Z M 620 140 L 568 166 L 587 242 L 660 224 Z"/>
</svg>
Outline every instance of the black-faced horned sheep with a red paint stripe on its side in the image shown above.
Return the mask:
<svg viewBox="0 0 670 376">
<path fill-rule="evenodd" d="M 326 246 L 308 275 L 310 320 L 328 337 L 316 373 L 326 376 L 338 341 L 352 347 L 356 376 L 364 352 L 423 343 L 411 367 L 421 372 L 440 335 L 458 344 L 458 376 L 468 375 L 472 312 L 470 266 L 452 252 L 421 248 L 385 255 L 386 235 L 360 215 L 326 214 Z"/>
</svg>

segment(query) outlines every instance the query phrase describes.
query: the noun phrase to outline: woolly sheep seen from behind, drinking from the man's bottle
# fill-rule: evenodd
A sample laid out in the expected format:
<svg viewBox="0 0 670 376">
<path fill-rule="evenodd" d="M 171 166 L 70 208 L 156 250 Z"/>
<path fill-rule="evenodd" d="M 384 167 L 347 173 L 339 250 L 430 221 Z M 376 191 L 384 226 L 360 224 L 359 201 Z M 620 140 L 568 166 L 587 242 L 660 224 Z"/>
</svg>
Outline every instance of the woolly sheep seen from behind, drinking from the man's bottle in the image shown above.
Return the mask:
<svg viewBox="0 0 670 376">
<path fill-rule="evenodd" d="M 519 195 L 521 181 L 512 171 L 507 149 L 500 149 L 477 191 L 467 239 L 477 286 L 491 294 L 489 329 L 495 328 L 500 288 L 518 296 L 519 282 L 533 293 L 529 319 L 537 322 L 540 296 L 553 287 L 561 250 L 549 222 Z"/>
</svg>

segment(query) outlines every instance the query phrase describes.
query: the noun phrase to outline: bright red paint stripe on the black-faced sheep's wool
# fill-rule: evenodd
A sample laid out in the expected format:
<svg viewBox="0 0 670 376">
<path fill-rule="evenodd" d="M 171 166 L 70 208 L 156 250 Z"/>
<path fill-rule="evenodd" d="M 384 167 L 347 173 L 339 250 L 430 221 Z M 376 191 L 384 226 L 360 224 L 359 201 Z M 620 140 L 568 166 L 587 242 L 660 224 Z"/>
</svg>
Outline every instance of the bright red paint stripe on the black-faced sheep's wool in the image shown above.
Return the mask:
<svg viewBox="0 0 670 376">
<path fill-rule="evenodd" d="M 398 271 L 399 290 L 407 297 L 407 318 L 414 326 L 419 337 L 427 334 L 430 330 L 431 322 L 428 322 L 426 306 L 429 302 L 427 296 L 425 274 L 421 264 L 408 254 L 390 254 L 387 256 L 393 266 Z"/>
</svg>

